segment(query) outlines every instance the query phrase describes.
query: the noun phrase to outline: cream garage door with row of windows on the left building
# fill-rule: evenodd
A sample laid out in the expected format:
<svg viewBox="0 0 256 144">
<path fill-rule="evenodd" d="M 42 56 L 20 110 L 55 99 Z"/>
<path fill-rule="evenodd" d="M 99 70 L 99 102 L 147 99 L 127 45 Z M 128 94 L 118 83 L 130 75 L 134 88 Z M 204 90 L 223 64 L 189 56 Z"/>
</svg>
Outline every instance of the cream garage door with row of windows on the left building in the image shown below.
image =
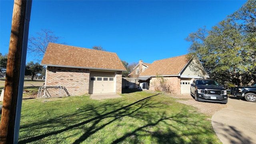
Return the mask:
<svg viewBox="0 0 256 144">
<path fill-rule="evenodd" d="M 89 94 L 113 93 L 114 72 L 90 72 Z"/>
</svg>

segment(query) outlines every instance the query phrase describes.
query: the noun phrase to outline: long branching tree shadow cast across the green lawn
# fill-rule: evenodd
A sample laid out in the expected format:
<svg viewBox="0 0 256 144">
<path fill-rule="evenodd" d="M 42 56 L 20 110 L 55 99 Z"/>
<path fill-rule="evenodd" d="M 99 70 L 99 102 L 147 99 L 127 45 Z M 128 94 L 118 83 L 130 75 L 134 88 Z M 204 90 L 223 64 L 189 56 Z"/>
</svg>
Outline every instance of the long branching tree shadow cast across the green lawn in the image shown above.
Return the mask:
<svg viewBox="0 0 256 144">
<path fill-rule="evenodd" d="M 169 124 L 168 122 L 176 122 L 182 125 L 194 125 L 196 126 L 198 122 L 193 120 L 188 120 L 190 115 L 186 112 L 187 110 L 182 109 L 181 112 L 174 114 L 166 114 L 160 112 L 151 112 L 144 111 L 151 109 L 162 109 L 164 105 L 162 102 L 154 102 L 151 98 L 158 96 L 159 94 L 155 94 L 153 96 L 148 96 L 126 106 L 122 106 L 122 100 L 105 103 L 102 106 L 94 106 L 93 104 L 88 104 L 84 108 L 81 108 L 81 111 L 76 111 L 71 114 L 65 114 L 58 118 L 53 118 L 50 120 L 41 120 L 39 122 L 35 122 L 32 124 L 25 124 L 20 126 L 20 132 L 25 132 L 26 129 L 34 127 L 35 129 L 51 129 L 50 131 L 45 132 L 44 134 L 38 134 L 36 136 L 33 133 L 28 133 L 26 139 L 20 140 L 19 144 L 30 143 L 30 142 L 39 142 L 40 140 L 51 137 L 54 139 L 54 135 L 60 134 L 62 132 L 68 132 L 72 129 L 81 129 L 83 134 L 77 138 L 73 144 L 79 144 L 90 138 L 96 132 L 102 130 L 106 126 L 110 126 L 113 122 L 122 121 L 122 118 L 128 116 L 130 118 L 136 118 L 144 123 L 141 123 L 141 126 L 136 126 L 136 128 L 132 131 L 127 131 L 124 135 L 117 137 L 112 143 L 122 143 L 128 141 L 131 143 L 142 143 L 140 138 L 143 136 L 151 136 L 156 139 L 157 143 L 186 143 L 184 138 L 181 136 L 197 136 L 200 133 L 212 133 L 210 130 L 208 131 L 208 127 L 202 128 L 203 130 L 198 130 L 196 132 L 187 132 L 184 134 L 177 133 L 176 131 L 183 132 L 180 130 L 180 127 L 174 124 Z M 116 108 L 116 110 L 109 111 L 109 108 Z M 120 107 L 120 108 L 118 108 Z M 93 118 L 88 119 L 89 116 L 94 116 Z M 29 115 L 28 115 L 29 116 Z M 83 120 L 81 122 L 72 121 L 72 117 L 80 116 L 79 120 Z M 192 116 L 192 115 L 191 115 Z M 67 121 L 63 121 L 63 118 Z M 70 119 L 70 120 L 68 120 Z M 75 123 L 75 124 L 74 124 Z M 88 124 L 90 123 L 90 124 Z M 150 127 L 154 127 L 160 123 L 166 123 L 170 125 L 172 129 L 168 129 L 168 131 L 163 131 L 161 128 L 158 130 L 150 131 Z M 50 127 L 52 126 L 52 127 Z M 61 128 L 58 128 L 61 127 Z M 56 130 L 54 130 L 56 129 Z M 72 133 L 67 137 L 72 137 L 78 135 L 77 133 Z M 79 134 L 80 135 L 80 134 Z M 193 138 L 192 143 L 200 143 L 202 141 Z M 211 143 L 211 141 L 206 142 Z"/>
</svg>

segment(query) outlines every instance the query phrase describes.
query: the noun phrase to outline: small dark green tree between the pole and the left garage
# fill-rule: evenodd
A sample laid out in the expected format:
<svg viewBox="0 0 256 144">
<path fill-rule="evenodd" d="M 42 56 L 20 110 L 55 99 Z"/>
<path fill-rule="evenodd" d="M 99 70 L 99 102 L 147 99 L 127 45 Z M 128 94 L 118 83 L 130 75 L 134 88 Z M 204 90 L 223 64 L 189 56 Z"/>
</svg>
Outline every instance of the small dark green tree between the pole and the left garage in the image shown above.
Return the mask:
<svg viewBox="0 0 256 144">
<path fill-rule="evenodd" d="M 34 76 L 42 72 L 42 70 L 43 70 L 43 66 L 41 66 L 38 62 L 34 64 L 34 62 L 31 61 L 28 64 L 26 64 L 25 75 L 31 76 L 31 80 L 34 80 Z"/>
</svg>

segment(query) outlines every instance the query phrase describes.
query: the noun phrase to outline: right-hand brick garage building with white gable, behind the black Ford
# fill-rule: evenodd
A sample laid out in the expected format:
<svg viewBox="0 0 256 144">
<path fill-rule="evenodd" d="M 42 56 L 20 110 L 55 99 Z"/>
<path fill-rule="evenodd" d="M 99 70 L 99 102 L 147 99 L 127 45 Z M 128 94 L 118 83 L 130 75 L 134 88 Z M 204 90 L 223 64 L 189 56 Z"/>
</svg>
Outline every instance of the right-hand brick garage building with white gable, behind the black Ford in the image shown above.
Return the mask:
<svg viewBox="0 0 256 144">
<path fill-rule="evenodd" d="M 178 94 L 190 93 L 190 84 L 195 78 L 209 78 L 196 56 L 176 56 L 154 61 L 138 79 L 149 80 L 149 90 L 159 90 L 160 78 L 166 80 L 171 91 Z"/>
</svg>

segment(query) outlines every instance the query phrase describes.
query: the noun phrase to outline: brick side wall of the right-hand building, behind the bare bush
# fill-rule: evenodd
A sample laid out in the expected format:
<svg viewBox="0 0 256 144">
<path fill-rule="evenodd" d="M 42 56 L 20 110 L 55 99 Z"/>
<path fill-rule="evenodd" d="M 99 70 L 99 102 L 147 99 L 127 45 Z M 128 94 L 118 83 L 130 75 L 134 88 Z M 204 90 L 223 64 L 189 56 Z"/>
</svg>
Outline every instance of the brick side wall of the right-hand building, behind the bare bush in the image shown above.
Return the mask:
<svg viewBox="0 0 256 144">
<path fill-rule="evenodd" d="M 180 94 L 180 78 L 178 77 L 164 77 L 171 86 L 171 92 Z M 159 86 L 159 78 L 152 77 L 150 80 L 149 90 L 157 90 Z"/>
</svg>

